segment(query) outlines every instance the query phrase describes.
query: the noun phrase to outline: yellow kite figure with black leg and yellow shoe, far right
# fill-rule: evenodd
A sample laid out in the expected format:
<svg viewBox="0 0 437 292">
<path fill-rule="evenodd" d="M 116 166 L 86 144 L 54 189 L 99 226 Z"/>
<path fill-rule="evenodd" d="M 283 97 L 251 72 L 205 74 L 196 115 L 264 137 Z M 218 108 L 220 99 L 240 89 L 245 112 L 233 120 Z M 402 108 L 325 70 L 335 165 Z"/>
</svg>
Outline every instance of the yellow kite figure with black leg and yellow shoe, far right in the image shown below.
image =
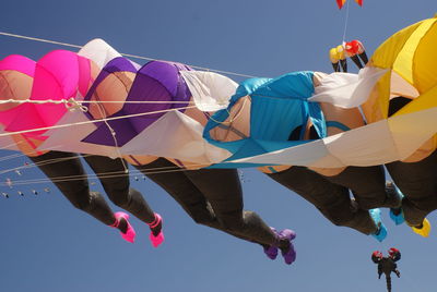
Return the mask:
<svg viewBox="0 0 437 292">
<path fill-rule="evenodd" d="M 389 120 L 404 119 L 394 133 L 415 129 L 409 138 L 417 143 L 409 155 L 386 166 L 405 195 L 402 211 L 406 222 L 423 235 L 429 232 L 425 217 L 437 209 L 436 39 L 437 19 L 413 24 L 387 39 L 375 51 L 370 65 L 388 72 L 363 105 L 369 122 L 391 117 Z M 424 227 L 425 231 L 414 227 Z"/>
</svg>

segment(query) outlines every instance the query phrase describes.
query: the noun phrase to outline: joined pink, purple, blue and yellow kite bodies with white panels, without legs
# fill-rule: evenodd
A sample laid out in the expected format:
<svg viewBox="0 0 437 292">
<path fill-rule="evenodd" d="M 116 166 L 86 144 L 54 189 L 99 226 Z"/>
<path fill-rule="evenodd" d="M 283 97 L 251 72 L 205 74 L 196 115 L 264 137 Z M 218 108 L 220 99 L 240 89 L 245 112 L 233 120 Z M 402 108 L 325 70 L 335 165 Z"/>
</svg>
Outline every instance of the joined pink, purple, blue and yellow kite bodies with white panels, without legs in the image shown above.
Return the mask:
<svg viewBox="0 0 437 292">
<path fill-rule="evenodd" d="M 436 19 L 400 31 L 358 74 L 303 71 L 239 85 L 176 62 L 139 65 L 102 39 L 37 62 L 11 56 L 0 63 L 3 100 L 72 98 L 80 106 L 2 104 L 0 122 L 39 151 L 153 155 L 232 168 L 404 160 L 435 141 L 437 64 L 424 60 L 436 34 Z M 399 96 L 411 102 L 389 117 Z"/>
</svg>

